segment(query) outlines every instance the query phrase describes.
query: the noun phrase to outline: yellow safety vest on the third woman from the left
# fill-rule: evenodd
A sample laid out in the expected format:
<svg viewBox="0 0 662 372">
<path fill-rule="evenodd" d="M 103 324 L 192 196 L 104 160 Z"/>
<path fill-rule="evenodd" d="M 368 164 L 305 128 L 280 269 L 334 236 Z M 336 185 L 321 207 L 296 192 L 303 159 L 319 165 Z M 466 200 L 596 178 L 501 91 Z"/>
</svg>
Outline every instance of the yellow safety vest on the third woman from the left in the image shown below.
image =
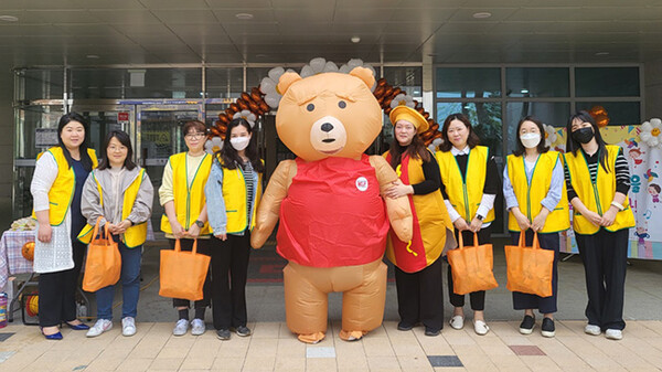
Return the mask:
<svg viewBox="0 0 662 372">
<path fill-rule="evenodd" d="M 170 167 L 172 167 L 172 193 L 174 195 L 174 213 L 177 214 L 177 221 L 189 230 L 191 225 L 197 220 L 200 212 L 206 203 L 204 196 L 204 185 L 210 177 L 210 170 L 212 169 L 212 156 L 209 153 L 204 155 L 204 159 L 200 162 L 193 181 L 191 184 L 188 182 L 188 164 L 186 164 L 186 152 L 175 153 L 170 157 Z M 161 231 L 167 234 L 172 234 L 170 227 L 170 221 L 163 213 L 161 217 Z M 204 223 L 204 226 L 200 230 L 200 235 L 210 235 L 210 225 Z"/>
</svg>

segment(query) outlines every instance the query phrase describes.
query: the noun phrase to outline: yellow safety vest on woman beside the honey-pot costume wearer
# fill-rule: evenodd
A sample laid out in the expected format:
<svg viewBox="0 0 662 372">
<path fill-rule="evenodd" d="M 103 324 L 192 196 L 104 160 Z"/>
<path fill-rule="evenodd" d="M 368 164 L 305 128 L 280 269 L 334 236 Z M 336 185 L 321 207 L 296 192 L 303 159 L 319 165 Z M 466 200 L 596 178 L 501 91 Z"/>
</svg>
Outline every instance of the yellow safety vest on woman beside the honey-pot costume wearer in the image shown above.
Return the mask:
<svg viewBox="0 0 662 372">
<path fill-rule="evenodd" d="M 448 200 L 469 223 L 473 220 L 476 211 L 480 206 L 485 185 L 489 156 L 490 149 L 484 146 L 472 148 L 469 151 L 469 159 L 467 159 L 467 171 L 462 174 L 456 157 L 450 151 L 437 151 L 435 155 Z M 467 180 L 470 182 L 467 183 Z M 492 221 L 494 221 L 494 209 L 488 212 L 483 223 Z"/>
</svg>

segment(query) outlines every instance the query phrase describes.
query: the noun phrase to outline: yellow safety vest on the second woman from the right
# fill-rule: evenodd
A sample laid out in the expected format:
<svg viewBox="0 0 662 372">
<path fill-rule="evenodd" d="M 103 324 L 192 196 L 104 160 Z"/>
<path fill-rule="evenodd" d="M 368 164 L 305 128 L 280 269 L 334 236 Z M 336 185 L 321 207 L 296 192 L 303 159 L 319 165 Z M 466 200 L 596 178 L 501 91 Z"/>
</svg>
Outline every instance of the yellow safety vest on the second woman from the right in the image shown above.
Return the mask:
<svg viewBox="0 0 662 372">
<path fill-rule="evenodd" d="M 541 153 L 535 162 L 530 180 L 526 177 L 526 170 L 524 169 L 524 157 L 516 157 L 514 155 L 508 156 L 508 177 L 513 185 L 520 210 L 526 215 L 528 221 L 533 221 L 533 219 L 541 213 L 541 210 L 543 209 L 541 202 L 547 196 L 547 192 L 549 192 L 552 173 L 559 159 L 560 155 L 557 151 Z M 563 182 L 560 201 L 556 208 L 549 212 L 541 233 L 556 233 L 570 228 L 568 195 L 565 182 Z M 515 220 L 512 212 L 509 213 L 508 228 L 512 232 L 520 231 L 517 220 Z"/>
</svg>

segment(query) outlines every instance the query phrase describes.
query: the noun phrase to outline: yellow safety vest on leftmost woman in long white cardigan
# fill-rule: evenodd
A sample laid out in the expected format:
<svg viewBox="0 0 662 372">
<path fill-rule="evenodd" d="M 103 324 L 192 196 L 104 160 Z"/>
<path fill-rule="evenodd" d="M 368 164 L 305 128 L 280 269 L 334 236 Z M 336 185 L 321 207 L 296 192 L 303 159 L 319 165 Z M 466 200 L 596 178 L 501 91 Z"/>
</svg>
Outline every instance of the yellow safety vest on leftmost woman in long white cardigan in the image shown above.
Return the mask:
<svg viewBox="0 0 662 372">
<path fill-rule="evenodd" d="M 52 147 L 46 150 L 46 152 L 51 152 L 57 163 L 57 178 L 55 178 L 55 181 L 51 185 L 51 190 L 49 190 L 49 203 L 51 204 L 49 219 L 51 221 L 51 226 L 58 226 L 64 222 L 66 212 L 72 204 L 72 199 L 74 199 L 74 192 L 76 191 L 76 174 L 74 173 L 74 169 L 70 168 L 68 162 L 66 162 L 64 151 L 60 146 Z M 36 160 L 39 160 L 42 155 L 44 155 L 44 152 L 40 152 L 36 156 Z M 92 169 L 95 169 L 98 163 L 96 151 L 94 149 L 87 149 L 87 155 L 89 155 L 89 159 L 92 159 Z M 36 219 L 34 210 L 32 210 L 32 217 Z"/>
</svg>

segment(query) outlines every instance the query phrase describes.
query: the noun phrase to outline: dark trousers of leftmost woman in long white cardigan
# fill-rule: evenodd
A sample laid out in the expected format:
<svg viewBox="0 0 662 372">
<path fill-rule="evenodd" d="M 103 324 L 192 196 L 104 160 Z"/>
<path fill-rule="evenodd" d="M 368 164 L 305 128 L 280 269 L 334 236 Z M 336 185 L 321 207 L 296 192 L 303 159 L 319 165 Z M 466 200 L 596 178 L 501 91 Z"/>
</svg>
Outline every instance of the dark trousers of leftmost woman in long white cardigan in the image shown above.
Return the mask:
<svg viewBox="0 0 662 372">
<path fill-rule="evenodd" d="M 72 240 L 74 267 L 68 270 L 39 275 L 39 325 L 58 326 L 76 316 L 76 288 L 87 245 Z"/>
</svg>

